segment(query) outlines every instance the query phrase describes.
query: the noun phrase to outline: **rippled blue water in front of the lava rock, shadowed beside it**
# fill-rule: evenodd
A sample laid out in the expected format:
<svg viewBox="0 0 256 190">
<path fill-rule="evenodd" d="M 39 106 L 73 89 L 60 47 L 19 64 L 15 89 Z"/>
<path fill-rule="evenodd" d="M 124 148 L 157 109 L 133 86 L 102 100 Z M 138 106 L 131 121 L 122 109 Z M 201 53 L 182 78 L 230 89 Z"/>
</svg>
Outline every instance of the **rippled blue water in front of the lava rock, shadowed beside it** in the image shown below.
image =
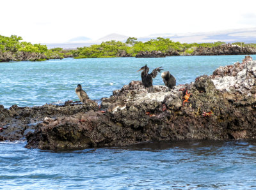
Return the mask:
<svg viewBox="0 0 256 190">
<path fill-rule="evenodd" d="M 0 143 L 2 189 L 256 189 L 256 141 L 52 152 Z"/>
</svg>

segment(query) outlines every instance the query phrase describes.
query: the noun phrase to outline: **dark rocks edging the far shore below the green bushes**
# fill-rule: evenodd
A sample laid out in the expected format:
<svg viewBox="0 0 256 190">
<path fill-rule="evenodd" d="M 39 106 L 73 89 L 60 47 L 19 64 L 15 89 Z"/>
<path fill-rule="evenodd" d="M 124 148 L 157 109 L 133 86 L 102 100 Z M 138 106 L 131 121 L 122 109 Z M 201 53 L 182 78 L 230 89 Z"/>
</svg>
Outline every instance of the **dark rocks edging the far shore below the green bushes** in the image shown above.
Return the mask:
<svg viewBox="0 0 256 190">
<path fill-rule="evenodd" d="M 188 53 L 186 50 L 168 50 L 163 53 L 161 51 L 141 51 L 136 54 L 136 58 L 152 58 L 152 57 L 166 57 L 166 56 L 179 56 L 179 55 L 253 55 L 256 54 L 256 49 L 253 47 L 239 47 L 238 45 L 225 44 L 218 45 L 217 47 L 194 47 L 192 52 Z M 73 54 L 67 54 L 63 51 L 63 57 L 74 57 Z M 60 54 L 52 54 L 51 59 L 62 59 Z M 132 57 L 131 54 L 125 52 L 125 50 L 118 50 L 116 57 Z M 9 61 L 45 61 L 49 59 L 45 54 L 36 54 L 34 52 L 1 52 L 0 62 Z"/>
</svg>

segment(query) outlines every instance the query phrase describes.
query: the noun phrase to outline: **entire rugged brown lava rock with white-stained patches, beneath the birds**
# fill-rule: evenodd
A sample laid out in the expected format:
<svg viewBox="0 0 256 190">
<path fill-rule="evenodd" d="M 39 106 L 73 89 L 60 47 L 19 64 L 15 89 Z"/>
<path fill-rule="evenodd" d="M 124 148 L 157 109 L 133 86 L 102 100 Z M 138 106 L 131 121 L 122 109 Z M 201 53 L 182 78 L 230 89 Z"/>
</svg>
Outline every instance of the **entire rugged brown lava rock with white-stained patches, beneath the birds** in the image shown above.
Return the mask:
<svg viewBox="0 0 256 190">
<path fill-rule="evenodd" d="M 256 61 L 246 56 L 242 63 L 220 67 L 211 76 L 173 89 L 157 85 L 151 93 L 140 81 L 132 81 L 102 98 L 100 108 L 123 100 L 124 110 L 106 113 L 99 112 L 92 100 L 31 108 L 0 106 L 0 140 L 27 140 L 28 148 L 69 149 L 256 138 Z"/>
</svg>

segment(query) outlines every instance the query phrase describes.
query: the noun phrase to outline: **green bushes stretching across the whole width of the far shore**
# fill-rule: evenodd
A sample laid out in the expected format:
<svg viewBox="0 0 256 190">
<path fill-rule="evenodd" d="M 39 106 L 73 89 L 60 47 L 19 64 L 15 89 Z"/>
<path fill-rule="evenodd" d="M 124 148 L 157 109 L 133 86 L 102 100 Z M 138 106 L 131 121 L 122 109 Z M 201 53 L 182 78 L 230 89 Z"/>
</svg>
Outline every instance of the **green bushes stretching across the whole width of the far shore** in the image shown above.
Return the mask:
<svg viewBox="0 0 256 190">
<path fill-rule="evenodd" d="M 62 59 L 64 57 L 97 58 L 97 57 L 126 57 L 136 56 L 139 52 L 161 51 L 166 55 L 193 55 L 198 48 L 213 48 L 225 45 L 225 42 L 214 43 L 180 43 L 169 38 L 158 37 L 146 42 L 129 37 L 125 43 L 121 41 L 105 41 L 99 45 L 81 47 L 76 50 L 63 48 L 47 49 L 46 45 L 31 44 L 22 41 L 20 36 L 10 37 L 0 35 L 0 62 L 1 61 L 44 61 L 46 59 Z M 256 44 L 243 42 L 232 43 L 239 47 L 256 48 Z"/>
</svg>

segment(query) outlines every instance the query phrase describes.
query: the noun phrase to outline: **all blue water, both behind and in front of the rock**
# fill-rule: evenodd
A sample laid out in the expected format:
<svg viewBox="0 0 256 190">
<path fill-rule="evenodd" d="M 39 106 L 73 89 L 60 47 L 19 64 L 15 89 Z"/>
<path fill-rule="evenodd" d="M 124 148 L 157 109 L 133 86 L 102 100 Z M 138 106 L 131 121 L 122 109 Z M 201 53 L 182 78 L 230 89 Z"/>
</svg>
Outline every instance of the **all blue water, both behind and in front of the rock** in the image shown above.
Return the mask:
<svg viewBox="0 0 256 190">
<path fill-rule="evenodd" d="M 253 59 L 256 55 L 252 55 Z M 163 66 L 177 84 L 211 75 L 244 55 L 157 59 L 63 59 L 0 63 L 0 104 L 18 106 L 92 99 L 140 80 L 141 66 Z M 161 76 L 155 85 L 163 85 Z M 184 140 L 84 150 L 25 149 L 0 142 L 0 189 L 256 189 L 256 141 Z"/>
</svg>

